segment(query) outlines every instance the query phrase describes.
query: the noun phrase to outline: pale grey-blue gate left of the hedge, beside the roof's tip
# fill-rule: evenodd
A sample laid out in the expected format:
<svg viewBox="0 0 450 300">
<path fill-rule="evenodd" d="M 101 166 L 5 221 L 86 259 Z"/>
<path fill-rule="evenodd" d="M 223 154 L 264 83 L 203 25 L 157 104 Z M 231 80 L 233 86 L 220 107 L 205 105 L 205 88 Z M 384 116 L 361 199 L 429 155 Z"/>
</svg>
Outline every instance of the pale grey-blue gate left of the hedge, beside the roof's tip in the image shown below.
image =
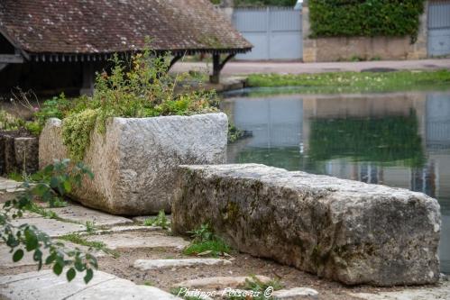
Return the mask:
<svg viewBox="0 0 450 300">
<path fill-rule="evenodd" d="M 236 59 L 301 59 L 301 11 L 293 8 L 237 8 L 233 13 L 234 27 L 253 43 L 253 50 Z"/>
</svg>

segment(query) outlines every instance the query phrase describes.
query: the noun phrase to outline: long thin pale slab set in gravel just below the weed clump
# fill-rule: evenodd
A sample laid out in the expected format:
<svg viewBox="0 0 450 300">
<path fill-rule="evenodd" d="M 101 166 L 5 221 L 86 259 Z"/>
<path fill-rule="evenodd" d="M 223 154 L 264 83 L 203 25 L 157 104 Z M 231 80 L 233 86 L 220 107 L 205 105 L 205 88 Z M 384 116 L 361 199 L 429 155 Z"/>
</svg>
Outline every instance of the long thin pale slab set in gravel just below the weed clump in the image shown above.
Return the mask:
<svg viewBox="0 0 450 300">
<path fill-rule="evenodd" d="M 137 259 L 133 267 L 142 271 L 158 268 L 231 265 L 226 259 Z"/>
</svg>

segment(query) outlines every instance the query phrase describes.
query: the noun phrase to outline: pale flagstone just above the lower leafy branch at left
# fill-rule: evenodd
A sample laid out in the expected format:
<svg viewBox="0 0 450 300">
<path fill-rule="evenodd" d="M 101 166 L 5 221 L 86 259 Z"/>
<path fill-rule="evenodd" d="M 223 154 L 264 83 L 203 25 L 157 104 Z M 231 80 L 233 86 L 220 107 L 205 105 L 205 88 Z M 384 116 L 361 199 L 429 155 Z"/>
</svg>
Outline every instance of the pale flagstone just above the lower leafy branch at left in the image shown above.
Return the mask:
<svg viewBox="0 0 450 300">
<path fill-rule="evenodd" d="M 41 232 L 47 233 L 51 238 L 56 238 L 73 232 L 84 232 L 86 227 L 76 223 L 65 223 L 54 219 L 44 218 L 24 218 L 16 219 L 11 222 L 14 226 L 20 226 L 24 223 L 36 226 Z"/>
</svg>

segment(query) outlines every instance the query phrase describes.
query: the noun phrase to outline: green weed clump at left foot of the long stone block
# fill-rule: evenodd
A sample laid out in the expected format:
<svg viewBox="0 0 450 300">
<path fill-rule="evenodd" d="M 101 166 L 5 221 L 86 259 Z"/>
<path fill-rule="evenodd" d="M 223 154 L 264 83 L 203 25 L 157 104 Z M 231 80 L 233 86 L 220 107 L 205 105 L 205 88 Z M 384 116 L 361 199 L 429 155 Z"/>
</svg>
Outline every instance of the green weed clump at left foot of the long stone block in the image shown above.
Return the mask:
<svg viewBox="0 0 450 300">
<path fill-rule="evenodd" d="M 193 240 L 183 250 L 183 253 L 186 255 L 205 253 L 217 257 L 231 251 L 231 248 L 225 241 L 216 236 L 209 224 L 202 224 L 196 230 L 188 233 L 191 234 Z"/>
</svg>

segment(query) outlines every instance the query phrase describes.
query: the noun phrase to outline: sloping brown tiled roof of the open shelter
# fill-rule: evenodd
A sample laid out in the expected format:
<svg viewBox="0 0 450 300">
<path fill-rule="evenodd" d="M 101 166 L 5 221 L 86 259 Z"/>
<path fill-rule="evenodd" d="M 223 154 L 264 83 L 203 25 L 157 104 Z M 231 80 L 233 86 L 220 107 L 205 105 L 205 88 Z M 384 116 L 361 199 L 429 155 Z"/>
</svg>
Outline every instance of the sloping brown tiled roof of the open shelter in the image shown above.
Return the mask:
<svg viewBox="0 0 450 300">
<path fill-rule="evenodd" d="M 0 32 L 29 54 L 252 47 L 209 0 L 0 0 Z"/>
</svg>

